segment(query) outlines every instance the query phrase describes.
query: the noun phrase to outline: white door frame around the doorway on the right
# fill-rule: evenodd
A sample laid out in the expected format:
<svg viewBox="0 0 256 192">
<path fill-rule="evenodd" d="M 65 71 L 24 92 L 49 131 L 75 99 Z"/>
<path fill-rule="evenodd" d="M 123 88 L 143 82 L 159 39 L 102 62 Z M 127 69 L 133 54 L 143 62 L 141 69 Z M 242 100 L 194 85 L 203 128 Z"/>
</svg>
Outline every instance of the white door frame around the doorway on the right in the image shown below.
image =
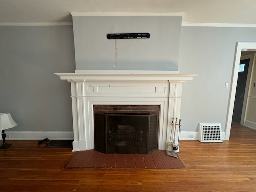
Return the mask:
<svg viewBox="0 0 256 192">
<path fill-rule="evenodd" d="M 240 64 L 241 52 L 242 51 L 251 51 L 256 50 L 256 42 L 238 42 L 236 45 L 236 53 L 234 58 L 234 67 L 233 67 L 233 75 L 231 79 L 231 87 L 230 87 L 230 96 L 229 96 L 229 104 L 228 104 L 228 114 L 226 120 L 226 135 L 225 140 L 229 140 L 234 102 L 236 96 L 236 84 L 238 79 L 238 68 Z"/>
</svg>

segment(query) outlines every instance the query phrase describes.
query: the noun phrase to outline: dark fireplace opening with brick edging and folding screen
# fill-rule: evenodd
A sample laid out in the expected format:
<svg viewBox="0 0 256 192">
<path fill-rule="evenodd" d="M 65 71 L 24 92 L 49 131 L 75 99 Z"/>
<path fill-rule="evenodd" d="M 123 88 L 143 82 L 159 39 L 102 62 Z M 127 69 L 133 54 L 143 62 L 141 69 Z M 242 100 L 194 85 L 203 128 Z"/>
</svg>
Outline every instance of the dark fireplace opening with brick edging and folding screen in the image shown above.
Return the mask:
<svg viewBox="0 0 256 192">
<path fill-rule="evenodd" d="M 157 149 L 159 106 L 94 106 L 94 148 L 148 154 Z"/>
</svg>

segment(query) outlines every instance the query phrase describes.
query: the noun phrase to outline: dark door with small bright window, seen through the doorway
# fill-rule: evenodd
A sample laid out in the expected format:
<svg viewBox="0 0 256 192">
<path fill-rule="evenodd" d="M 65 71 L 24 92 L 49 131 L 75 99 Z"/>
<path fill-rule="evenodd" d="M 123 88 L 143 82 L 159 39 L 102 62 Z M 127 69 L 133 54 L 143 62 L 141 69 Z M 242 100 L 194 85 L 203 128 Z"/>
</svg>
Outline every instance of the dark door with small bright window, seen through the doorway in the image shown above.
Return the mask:
<svg viewBox="0 0 256 192">
<path fill-rule="evenodd" d="M 234 111 L 232 121 L 234 122 L 241 122 L 242 116 L 242 108 L 244 102 L 244 92 L 248 74 L 250 59 L 240 60 L 240 72 L 238 72 L 238 80 L 236 86 L 236 96 L 235 96 L 235 103 L 234 103 Z"/>
</svg>

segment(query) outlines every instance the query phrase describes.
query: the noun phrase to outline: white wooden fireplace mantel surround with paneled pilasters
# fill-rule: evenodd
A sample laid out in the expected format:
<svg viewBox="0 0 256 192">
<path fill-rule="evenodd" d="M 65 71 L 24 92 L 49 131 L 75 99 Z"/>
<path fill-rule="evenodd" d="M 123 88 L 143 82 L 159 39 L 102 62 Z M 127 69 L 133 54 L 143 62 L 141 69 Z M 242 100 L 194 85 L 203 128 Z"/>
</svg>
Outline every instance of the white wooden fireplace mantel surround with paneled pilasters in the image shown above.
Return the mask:
<svg viewBox="0 0 256 192">
<path fill-rule="evenodd" d="M 76 70 L 57 73 L 71 83 L 73 151 L 94 149 L 94 105 L 159 105 L 158 149 L 170 140 L 173 117 L 180 118 L 182 83 L 196 74 L 168 71 Z"/>
</svg>

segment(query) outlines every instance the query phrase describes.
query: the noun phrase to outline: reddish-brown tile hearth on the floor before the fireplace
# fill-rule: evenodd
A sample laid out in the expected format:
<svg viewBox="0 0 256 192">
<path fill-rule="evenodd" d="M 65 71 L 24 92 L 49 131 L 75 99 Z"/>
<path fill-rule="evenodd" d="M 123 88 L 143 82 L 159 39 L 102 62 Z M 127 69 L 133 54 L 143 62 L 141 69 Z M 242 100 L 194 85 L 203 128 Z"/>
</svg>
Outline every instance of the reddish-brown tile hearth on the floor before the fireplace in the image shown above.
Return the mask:
<svg viewBox="0 0 256 192">
<path fill-rule="evenodd" d="M 185 168 L 180 158 L 166 155 L 165 150 L 150 154 L 104 154 L 96 150 L 75 152 L 66 168 Z"/>
</svg>

